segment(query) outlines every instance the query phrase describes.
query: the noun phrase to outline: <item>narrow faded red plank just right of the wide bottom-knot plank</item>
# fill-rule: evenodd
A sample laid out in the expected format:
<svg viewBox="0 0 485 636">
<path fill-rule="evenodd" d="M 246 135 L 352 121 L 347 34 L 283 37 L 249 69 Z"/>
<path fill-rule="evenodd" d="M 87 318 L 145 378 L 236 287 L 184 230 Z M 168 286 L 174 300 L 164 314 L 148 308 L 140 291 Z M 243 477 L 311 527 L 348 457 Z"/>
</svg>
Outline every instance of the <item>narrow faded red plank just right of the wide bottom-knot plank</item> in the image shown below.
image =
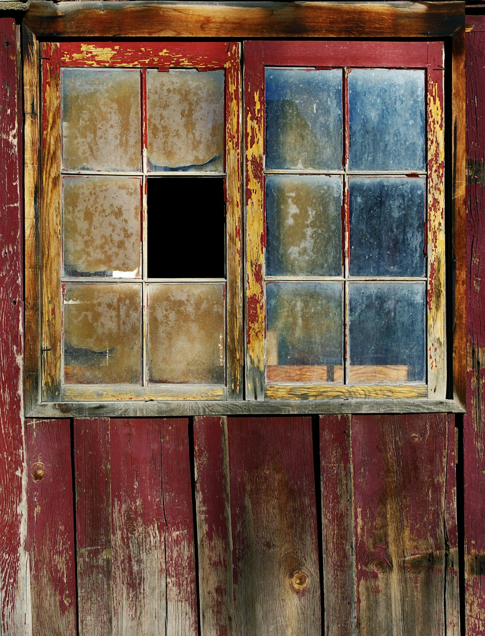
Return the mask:
<svg viewBox="0 0 485 636">
<path fill-rule="evenodd" d="M 325 635 L 357 633 L 348 415 L 320 416 Z"/>
</svg>

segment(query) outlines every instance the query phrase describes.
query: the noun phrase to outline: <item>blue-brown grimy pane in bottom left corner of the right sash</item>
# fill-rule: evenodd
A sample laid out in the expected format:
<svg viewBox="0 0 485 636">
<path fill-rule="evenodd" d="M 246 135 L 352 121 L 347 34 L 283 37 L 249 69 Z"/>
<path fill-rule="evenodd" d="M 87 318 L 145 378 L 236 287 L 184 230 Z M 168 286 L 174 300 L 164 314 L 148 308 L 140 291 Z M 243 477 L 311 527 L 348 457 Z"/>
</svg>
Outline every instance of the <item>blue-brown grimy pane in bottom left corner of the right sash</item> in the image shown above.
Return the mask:
<svg viewBox="0 0 485 636">
<path fill-rule="evenodd" d="M 343 284 L 266 284 L 266 379 L 341 382 Z"/>
</svg>

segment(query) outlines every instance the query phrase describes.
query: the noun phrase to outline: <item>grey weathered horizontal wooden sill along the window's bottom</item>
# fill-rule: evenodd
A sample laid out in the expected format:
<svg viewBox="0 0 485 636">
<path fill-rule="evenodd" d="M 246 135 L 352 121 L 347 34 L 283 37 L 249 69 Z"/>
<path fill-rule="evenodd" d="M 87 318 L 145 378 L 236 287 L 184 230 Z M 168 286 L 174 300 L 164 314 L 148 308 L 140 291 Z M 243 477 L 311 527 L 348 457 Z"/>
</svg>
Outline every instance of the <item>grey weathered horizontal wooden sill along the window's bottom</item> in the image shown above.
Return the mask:
<svg viewBox="0 0 485 636">
<path fill-rule="evenodd" d="M 280 401 L 43 402 L 26 417 L 191 417 L 195 415 L 325 415 L 328 413 L 464 413 L 458 402 L 430 399 Z"/>
</svg>

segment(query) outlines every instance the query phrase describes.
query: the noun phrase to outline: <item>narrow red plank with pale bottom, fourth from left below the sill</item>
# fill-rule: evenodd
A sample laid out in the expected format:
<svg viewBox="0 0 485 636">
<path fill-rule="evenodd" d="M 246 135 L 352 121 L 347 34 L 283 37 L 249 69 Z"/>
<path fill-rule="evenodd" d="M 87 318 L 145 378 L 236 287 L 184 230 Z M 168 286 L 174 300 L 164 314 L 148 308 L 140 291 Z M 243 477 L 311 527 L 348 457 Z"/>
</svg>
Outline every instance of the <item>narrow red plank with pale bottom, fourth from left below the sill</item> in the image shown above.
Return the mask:
<svg viewBox="0 0 485 636">
<path fill-rule="evenodd" d="M 156 421 L 156 420 L 153 420 Z M 165 513 L 167 636 L 197 636 L 194 520 L 188 419 L 163 420 L 161 469 Z"/>
</svg>

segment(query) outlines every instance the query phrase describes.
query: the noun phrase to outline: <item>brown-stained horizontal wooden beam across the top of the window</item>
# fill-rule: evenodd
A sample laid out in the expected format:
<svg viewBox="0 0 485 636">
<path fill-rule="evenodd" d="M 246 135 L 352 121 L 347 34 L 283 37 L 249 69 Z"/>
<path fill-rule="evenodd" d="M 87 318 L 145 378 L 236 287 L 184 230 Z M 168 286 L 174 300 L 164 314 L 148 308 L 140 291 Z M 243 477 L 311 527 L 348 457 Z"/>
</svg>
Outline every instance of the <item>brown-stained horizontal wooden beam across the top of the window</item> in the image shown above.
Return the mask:
<svg viewBox="0 0 485 636">
<path fill-rule="evenodd" d="M 38 36 L 77 38 L 439 38 L 464 20 L 461 2 L 61 2 L 33 0 L 25 24 Z"/>
</svg>

